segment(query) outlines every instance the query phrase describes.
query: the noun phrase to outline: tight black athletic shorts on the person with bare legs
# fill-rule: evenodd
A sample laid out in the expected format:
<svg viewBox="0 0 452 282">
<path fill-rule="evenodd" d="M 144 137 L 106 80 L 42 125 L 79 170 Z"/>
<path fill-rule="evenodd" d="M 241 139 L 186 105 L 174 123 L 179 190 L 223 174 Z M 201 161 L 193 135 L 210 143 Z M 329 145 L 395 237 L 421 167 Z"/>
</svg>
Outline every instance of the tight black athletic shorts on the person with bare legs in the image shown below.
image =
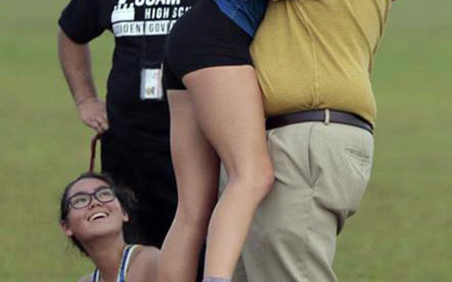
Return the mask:
<svg viewBox="0 0 452 282">
<path fill-rule="evenodd" d="M 194 70 L 252 65 L 252 38 L 212 0 L 201 0 L 174 24 L 166 37 L 164 89 L 186 89 L 182 77 Z"/>
</svg>

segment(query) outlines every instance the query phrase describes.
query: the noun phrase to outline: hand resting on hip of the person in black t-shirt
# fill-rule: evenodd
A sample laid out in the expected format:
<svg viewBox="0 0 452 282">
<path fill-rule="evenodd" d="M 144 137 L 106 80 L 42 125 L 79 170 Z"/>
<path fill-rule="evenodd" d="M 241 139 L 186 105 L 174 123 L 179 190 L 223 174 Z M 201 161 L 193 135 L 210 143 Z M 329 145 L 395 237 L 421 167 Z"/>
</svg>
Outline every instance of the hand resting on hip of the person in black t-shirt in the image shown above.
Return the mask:
<svg viewBox="0 0 452 282">
<path fill-rule="evenodd" d="M 108 130 L 107 111 L 105 102 L 97 98 L 89 98 L 77 105 L 78 113 L 83 123 L 97 131 L 104 133 Z"/>
</svg>

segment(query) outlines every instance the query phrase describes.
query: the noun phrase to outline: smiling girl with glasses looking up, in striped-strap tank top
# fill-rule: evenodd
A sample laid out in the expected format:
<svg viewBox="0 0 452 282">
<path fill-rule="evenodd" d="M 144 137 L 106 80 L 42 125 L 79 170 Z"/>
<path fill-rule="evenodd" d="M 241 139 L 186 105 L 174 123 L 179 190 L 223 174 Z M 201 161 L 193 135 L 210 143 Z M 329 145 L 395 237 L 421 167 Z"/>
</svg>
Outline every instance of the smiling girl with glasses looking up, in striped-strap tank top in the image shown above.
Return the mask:
<svg viewBox="0 0 452 282">
<path fill-rule="evenodd" d="M 131 196 L 97 173 L 82 174 L 66 186 L 60 202 L 60 224 L 96 266 L 81 282 L 156 281 L 159 250 L 128 245 L 124 239 Z"/>
</svg>

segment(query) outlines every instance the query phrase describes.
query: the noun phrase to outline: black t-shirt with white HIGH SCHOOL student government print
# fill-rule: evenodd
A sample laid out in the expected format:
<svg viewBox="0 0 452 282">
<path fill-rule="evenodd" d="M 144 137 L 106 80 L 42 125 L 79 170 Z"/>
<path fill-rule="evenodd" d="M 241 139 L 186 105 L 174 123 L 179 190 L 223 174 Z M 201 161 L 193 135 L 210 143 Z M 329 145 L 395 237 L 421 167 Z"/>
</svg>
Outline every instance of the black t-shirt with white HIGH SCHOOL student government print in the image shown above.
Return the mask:
<svg viewBox="0 0 452 282">
<path fill-rule="evenodd" d="M 59 24 L 74 42 L 84 44 L 106 29 L 115 36 L 107 82 L 110 127 L 124 138 L 159 140 L 169 133 L 165 97 L 141 98 L 143 68 L 159 68 L 165 35 L 198 0 L 71 0 Z"/>
</svg>

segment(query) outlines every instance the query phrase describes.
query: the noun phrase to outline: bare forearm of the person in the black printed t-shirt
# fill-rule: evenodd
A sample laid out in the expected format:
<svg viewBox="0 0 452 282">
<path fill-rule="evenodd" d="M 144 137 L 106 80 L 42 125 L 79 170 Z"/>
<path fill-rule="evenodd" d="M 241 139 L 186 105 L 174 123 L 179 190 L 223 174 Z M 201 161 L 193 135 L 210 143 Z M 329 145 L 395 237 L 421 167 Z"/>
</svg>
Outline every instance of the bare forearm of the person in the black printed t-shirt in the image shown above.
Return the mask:
<svg viewBox="0 0 452 282">
<path fill-rule="evenodd" d="M 58 53 L 75 104 L 97 99 L 94 87 L 89 46 L 73 42 L 61 29 L 58 31 Z"/>
</svg>

